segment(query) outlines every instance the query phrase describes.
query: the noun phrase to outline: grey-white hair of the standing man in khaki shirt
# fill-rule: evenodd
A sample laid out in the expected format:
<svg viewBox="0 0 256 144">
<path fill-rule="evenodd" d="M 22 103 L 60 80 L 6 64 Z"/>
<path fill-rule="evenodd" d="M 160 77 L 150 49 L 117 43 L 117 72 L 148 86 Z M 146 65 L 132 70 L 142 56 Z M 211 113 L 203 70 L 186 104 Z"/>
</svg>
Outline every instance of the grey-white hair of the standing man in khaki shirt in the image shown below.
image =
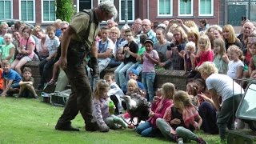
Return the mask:
<svg viewBox="0 0 256 144">
<path fill-rule="evenodd" d="M 101 2 L 98 7 L 106 12 L 107 14 L 110 14 L 110 16 L 113 16 L 113 18 L 117 18 L 118 16 L 118 10 L 115 8 L 114 3 L 111 1 L 105 1 L 105 2 Z"/>
</svg>

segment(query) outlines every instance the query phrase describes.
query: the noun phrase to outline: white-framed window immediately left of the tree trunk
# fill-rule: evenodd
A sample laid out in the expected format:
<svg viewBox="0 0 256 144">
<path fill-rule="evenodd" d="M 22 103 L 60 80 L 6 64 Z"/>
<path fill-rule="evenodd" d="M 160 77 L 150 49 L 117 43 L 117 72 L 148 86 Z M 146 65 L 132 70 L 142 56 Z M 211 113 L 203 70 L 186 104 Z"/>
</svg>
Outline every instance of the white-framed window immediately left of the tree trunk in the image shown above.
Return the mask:
<svg viewBox="0 0 256 144">
<path fill-rule="evenodd" d="M 43 0 L 42 22 L 54 22 L 56 19 L 55 10 L 56 8 L 54 0 Z"/>
</svg>

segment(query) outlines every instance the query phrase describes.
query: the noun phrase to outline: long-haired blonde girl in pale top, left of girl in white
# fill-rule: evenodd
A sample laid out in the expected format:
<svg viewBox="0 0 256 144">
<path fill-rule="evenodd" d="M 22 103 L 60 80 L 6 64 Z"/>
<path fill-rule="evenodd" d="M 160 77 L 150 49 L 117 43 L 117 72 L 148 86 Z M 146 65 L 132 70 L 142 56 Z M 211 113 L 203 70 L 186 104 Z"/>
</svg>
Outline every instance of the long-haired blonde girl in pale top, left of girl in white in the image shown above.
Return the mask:
<svg viewBox="0 0 256 144">
<path fill-rule="evenodd" d="M 214 40 L 214 64 L 218 69 L 219 74 L 226 74 L 228 63 L 230 62 L 226 54 L 225 42 L 222 38 Z"/>
</svg>

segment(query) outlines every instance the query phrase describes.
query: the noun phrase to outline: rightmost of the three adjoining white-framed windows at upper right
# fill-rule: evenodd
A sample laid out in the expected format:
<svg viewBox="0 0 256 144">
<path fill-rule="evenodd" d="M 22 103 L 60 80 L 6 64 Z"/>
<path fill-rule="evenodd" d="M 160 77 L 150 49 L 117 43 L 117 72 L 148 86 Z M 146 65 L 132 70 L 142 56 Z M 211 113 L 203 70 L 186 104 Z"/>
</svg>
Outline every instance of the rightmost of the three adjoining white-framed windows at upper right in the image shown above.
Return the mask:
<svg viewBox="0 0 256 144">
<path fill-rule="evenodd" d="M 199 16 L 214 16 L 214 0 L 199 1 Z"/>
</svg>

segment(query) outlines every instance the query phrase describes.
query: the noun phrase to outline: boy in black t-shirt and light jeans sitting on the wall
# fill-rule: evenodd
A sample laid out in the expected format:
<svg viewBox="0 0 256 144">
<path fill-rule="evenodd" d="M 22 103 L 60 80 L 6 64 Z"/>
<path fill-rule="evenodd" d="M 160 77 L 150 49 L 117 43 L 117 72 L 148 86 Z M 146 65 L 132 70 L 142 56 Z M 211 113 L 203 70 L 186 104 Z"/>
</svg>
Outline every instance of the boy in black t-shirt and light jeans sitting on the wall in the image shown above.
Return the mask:
<svg viewBox="0 0 256 144">
<path fill-rule="evenodd" d="M 116 70 L 114 70 L 114 78 L 118 84 L 118 86 L 124 86 L 126 84 L 126 71 L 132 66 L 138 57 L 138 45 L 134 42 L 134 37 L 132 35 L 132 31 L 127 29 L 125 31 L 126 41 L 128 44 L 123 46 L 123 52 L 125 54 L 124 61 L 121 65 L 118 66 Z"/>
</svg>

